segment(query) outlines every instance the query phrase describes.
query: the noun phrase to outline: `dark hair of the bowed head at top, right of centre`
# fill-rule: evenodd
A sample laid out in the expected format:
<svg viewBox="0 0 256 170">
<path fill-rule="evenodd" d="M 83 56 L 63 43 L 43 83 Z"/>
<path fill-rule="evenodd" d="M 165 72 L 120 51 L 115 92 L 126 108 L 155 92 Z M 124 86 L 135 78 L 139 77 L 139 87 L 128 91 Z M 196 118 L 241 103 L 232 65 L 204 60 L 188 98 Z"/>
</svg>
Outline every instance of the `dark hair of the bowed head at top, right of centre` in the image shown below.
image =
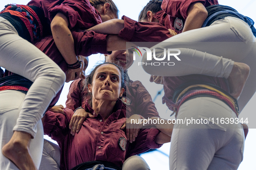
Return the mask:
<svg viewBox="0 0 256 170">
<path fill-rule="evenodd" d="M 138 21 L 147 18 L 147 12 L 151 11 L 152 13 L 157 13 L 161 11 L 162 0 L 150 0 L 146 6 L 140 11 Z"/>
</svg>

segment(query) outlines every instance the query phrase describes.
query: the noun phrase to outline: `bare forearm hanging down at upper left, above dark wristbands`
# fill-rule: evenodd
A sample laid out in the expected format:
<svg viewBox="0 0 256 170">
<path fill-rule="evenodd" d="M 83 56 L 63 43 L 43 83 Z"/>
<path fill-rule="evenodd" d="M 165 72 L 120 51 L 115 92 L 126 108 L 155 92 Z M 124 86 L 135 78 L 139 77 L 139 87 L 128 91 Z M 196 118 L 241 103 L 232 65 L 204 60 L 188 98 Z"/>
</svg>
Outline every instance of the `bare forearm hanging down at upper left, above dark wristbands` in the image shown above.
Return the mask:
<svg viewBox="0 0 256 170">
<path fill-rule="evenodd" d="M 55 44 L 68 64 L 74 64 L 78 58 L 75 54 L 74 39 L 68 28 L 68 19 L 57 13 L 51 23 L 52 36 Z"/>
</svg>

